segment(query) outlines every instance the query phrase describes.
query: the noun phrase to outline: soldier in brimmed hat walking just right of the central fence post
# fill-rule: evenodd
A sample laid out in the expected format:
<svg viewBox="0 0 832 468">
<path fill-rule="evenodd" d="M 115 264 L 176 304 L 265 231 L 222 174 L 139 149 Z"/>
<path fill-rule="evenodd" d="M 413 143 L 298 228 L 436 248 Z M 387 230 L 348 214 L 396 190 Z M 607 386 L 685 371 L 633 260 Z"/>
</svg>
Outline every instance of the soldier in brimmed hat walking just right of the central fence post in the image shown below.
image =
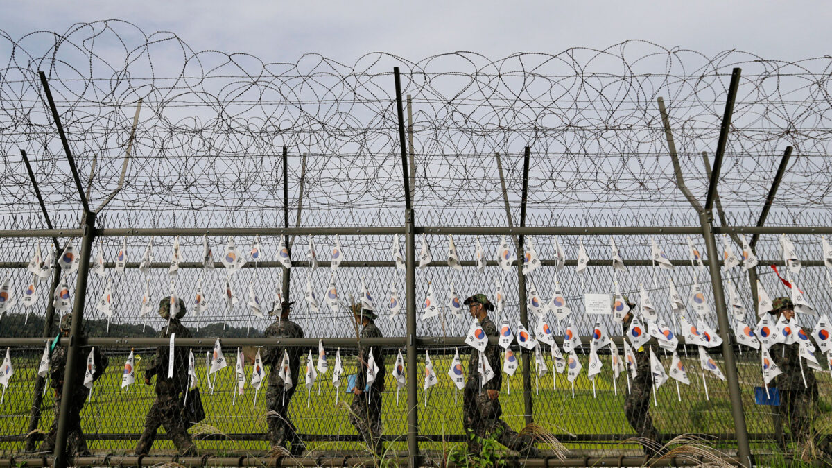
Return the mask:
<svg viewBox="0 0 832 468">
<path fill-rule="evenodd" d="M 484 294 L 475 294 L 464 301 L 468 306 L 471 316 L 478 319 L 480 326 L 487 336 L 498 336 L 497 326 L 488 317 L 488 311 L 493 311 L 494 306 Z M 505 421 L 500 419 L 503 416 L 503 407 L 498 400 L 499 390 L 503 385 L 503 373 L 500 366 L 500 351 L 498 345 L 488 341 L 483 352 L 488 364 L 494 371 L 493 378 L 480 387 L 479 374 L 479 352 L 473 350 L 468 360 L 468 381 L 465 383 L 463 393 L 463 427 L 468 435 L 475 435 L 475 438 L 468 438 L 468 451 L 478 454 L 483 446 L 479 439 L 494 437 L 498 442 L 507 446 L 513 451 L 518 451 L 522 456 L 537 457 L 539 452 L 534 446 L 534 438 L 527 434 L 518 434 L 513 431 Z M 482 391 L 481 391 L 482 388 Z"/>
</svg>

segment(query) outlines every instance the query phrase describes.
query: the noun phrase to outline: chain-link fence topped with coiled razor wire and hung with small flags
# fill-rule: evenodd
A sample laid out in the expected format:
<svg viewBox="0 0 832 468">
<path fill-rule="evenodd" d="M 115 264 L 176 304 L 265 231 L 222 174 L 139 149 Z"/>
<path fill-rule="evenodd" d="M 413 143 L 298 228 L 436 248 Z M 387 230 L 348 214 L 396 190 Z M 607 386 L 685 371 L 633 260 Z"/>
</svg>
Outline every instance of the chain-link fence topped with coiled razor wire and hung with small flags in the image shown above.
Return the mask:
<svg viewBox="0 0 832 468">
<path fill-rule="evenodd" d="M 92 37 L 120 38 L 125 50 L 99 53 Z M 564 457 L 639 464 L 645 455 L 750 466 L 752 456 L 830 455 L 832 372 L 818 325 L 832 306 L 832 253 L 821 239 L 832 232 L 829 57 L 703 57 L 626 42 L 493 62 L 376 54 L 349 67 L 322 57 L 264 64 L 194 52 L 123 22 L 2 40 L 10 57 L 0 82 L 5 460 L 446 466 L 496 451 L 547 466 Z M 610 72 L 621 63 L 626 72 Z M 394 66 L 405 69 L 395 74 L 400 93 Z M 731 80 L 734 67 L 743 67 L 741 79 Z M 727 121 L 723 107 L 734 111 Z M 799 271 L 786 265 L 784 234 Z M 452 241 L 458 268 L 448 261 Z M 503 242 L 519 262 L 500 265 Z M 718 260 L 726 246 L 740 259 L 755 252 L 758 265 Z M 523 274 L 522 253 L 532 248 L 541 266 Z M 420 261 L 425 251 L 432 261 Z M 810 340 L 788 349 L 814 341 L 821 352 L 795 367 L 787 348 L 771 348 L 784 375 L 765 382 L 759 344 L 741 336 L 747 327 L 759 338 L 758 321 L 770 315 L 758 306 L 760 287 L 790 296 L 787 281 L 815 310 L 790 325 Z M 603 304 L 618 292 L 658 335 L 649 344 L 634 341 L 636 325 L 611 307 L 587 308 L 587 295 Z M 478 331 L 461 302 L 478 293 L 502 297 L 488 316 L 501 335 L 508 323 L 508 350 L 497 336 L 484 354 L 466 342 Z M 172 344 L 156 313 L 168 296 L 185 301 L 181 325 L 191 335 Z M 368 296 L 380 336 L 361 336 L 351 311 Z M 295 301 L 289 316 L 284 300 Z M 571 313 L 557 311 L 560 301 Z M 61 336 L 67 314 L 73 328 Z M 285 331 L 285 320 L 303 337 L 267 336 L 275 324 Z M 522 328 L 537 348 L 522 346 Z M 599 333 L 615 347 L 593 345 Z M 673 335 L 675 351 L 658 346 Z M 569 336 L 580 339 L 572 352 Z M 228 366 L 211 372 L 217 340 Z M 637 372 L 616 364 L 629 361 L 629 343 Z M 44 346 L 54 356 L 45 369 Z M 254 362 L 284 347 L 300 356 L 288 398 L 282 361 Z M 368 347 L 380 350 L 375 366 L 384 362 L 386 375 L 356 396 L 351 379 L 368 371 L 360 358 Z M 100 358 L 87 378 L 92 348 Z M 658 367 L 647 366 L 651 349 Z M 195 356 L 193 366 L 162 362 L 170 350 Z M 483 361 L 493 377 L 483 377 Z M 186 389 L 160 390 L 191 367 Z M 665 373 L 671 379 L 659 386 Z M 135 383 L 123 386 L 126 376 Z M 204 418 L 183 442 L 176 425 L 193 391 Z M 373 395 L 377 407 L 354 405 Z M 372 430 L 356 427 L 362 411 L 372 413 Z M 157 422 L 164 430 L 146 453 L 141 435 Z M 282 449 L 275 437 L 287 442 Z"/>
</svg>

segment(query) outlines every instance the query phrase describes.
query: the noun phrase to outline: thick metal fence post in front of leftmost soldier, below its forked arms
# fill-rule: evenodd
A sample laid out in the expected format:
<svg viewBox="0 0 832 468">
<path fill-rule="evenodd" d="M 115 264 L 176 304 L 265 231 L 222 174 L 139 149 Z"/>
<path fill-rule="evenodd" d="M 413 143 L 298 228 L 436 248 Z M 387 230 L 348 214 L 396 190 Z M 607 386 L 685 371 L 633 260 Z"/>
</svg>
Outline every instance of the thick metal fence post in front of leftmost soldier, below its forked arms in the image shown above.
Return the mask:
<svg viewBox="0 0 832 468">
<path fill-rule="evenodd" d="M 92 241 L 96 236 L 96 214 L 87 212 L 82 227 L 84 232 L 81 244 L 81 265 L 78 266 L 78 280 L 75 284 L 75 303 L 72 305 L 72 329 L 69 332 L 69 349 L 67 350 L 67 367 L 64 370 L 61 409 L 58 413 L 57 435 L 55 436 L 55 468 L 67 466 L 67 431 L 69 430 L 69 411 L 72 405 L 72 388 L 82 385 L 75 378 L 73 370 L 81 356 L 82 320 L 84 302 L 87 299 L 87 279 L 89 276 Z M 57 265 L 60 269 L 61 266 Z"/>
</svg>

